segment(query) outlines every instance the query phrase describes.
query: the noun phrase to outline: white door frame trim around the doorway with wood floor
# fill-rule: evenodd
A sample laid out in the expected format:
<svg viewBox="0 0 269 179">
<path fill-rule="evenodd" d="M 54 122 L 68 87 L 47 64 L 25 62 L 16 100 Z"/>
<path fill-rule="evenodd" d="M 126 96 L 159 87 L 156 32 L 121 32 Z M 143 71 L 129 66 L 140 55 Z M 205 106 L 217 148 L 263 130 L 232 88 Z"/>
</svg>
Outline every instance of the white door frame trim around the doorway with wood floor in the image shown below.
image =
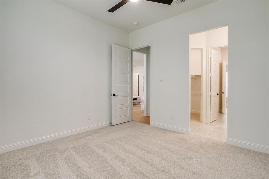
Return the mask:
<svg viewBox="0 0 269 179">
<path fill-rule="evenodd" d="M 150 111 L 147 111 L 147 113 L 150 115 L 152 114 L 152 111 L 153 111 L 153 89 L 152 89 L 152 64 L 153 64 L 153 57 L 152 57 L 152 48 L 153 48 L 153 45 L 152 45 L 152 42 L 148 42 L 148 43 L 145 43 L 145 44 L 142 44 L 142 45 L 137 45 L 137 46 L 134 46 L 132 48 L 130 48 L 132 50 L 132 64 L 133 64 L 133 50 L 137 50 L 137 49 L 141 49 L 141 48 L 145 48 L 145 47 L 150 47 Z M 132 80 L 133 80 L 133 65 L 132 65 Z M 133 84 L 133 81 L 132 81 L 132 84 Z M 133 88 L 131 88 L 132 90 L 132 95 L 133 95 Z M 144 98 L 145 100 L 145 98 Z M 133 100 L 132 100 L 133 102 Z M 132 120 L 133 120 L 133 110 L 132 110 Z M 150 125 L 151 124 L 151 121 L 153 121 L 153 118 L 152 116 L 150 116 Z"/>
</svg>

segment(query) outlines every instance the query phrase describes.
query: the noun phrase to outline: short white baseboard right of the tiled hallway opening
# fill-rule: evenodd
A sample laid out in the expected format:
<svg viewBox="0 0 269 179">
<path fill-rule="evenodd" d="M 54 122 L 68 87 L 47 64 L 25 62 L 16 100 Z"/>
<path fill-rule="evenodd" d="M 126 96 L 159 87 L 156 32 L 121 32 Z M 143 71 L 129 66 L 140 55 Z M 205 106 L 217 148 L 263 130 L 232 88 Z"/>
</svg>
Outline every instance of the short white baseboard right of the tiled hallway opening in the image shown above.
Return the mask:
<svg viewBox="0 0 269 179">
<path fill-rule="evenodd" d="M 250 143 L 246 141 L 240 141 L 236 139 L 227 138 L 226 143 L 238 147 L 243 147 L 246 149 L 256 150 L 258 152 L 263 152 L 269 154 L 269 146 L 259 145 L 256 143 Z"/>
</svg>

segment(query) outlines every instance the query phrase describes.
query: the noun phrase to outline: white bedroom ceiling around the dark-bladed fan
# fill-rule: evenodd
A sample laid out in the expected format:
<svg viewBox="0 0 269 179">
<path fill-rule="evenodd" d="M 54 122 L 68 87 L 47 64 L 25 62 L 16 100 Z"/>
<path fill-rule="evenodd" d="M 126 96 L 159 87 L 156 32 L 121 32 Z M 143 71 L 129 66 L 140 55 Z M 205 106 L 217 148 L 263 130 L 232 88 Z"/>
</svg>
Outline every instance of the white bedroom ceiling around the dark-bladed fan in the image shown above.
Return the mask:
<svg viewBox="0 0 269 179">
<path fill-rule="evenodd" d="M 188 0 L 181 4 L 173 1 L 171 5 L 145 0 L 139 0 L 136 3 L 129 1 L 114 13 L 107 12 L 107 10 L 121 0 L 53 1 L 129 33 L 216 0 Z M 135 21 L 139 23 L 138 26 L 133 25 Z"/>
</svg>

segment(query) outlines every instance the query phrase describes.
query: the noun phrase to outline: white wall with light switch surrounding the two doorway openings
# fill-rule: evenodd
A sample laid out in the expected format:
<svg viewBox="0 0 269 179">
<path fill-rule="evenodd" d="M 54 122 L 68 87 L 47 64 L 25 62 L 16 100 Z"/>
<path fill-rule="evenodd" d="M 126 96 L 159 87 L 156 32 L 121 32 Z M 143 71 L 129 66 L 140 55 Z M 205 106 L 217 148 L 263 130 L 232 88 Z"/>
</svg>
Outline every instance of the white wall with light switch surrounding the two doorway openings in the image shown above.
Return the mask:
<svg viewBox="0 0 269 179">
<path fill-rule="evenodd" d="M 129 34 L 129 47 L 152 42 L 154 126 L 188 132 L 189 34 L 228 24 L 227 143 L 268 150 L 268 7 L 268 1 L 215 1 Z"/>
</svg>

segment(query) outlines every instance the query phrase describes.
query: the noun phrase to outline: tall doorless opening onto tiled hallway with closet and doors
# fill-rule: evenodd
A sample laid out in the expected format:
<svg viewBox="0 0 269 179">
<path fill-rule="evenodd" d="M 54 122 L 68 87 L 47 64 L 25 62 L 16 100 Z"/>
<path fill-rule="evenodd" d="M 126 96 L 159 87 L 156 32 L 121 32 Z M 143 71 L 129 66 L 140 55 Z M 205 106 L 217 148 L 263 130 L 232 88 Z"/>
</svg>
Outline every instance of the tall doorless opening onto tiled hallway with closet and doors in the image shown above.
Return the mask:
<svg viewBox="0 0 269 179">
<path fill-rule="evenodd" d="M 189 79 L 192 135 L 226 142 L 227 64 L 227 26 L 190 35 Z"/>
</svg>

